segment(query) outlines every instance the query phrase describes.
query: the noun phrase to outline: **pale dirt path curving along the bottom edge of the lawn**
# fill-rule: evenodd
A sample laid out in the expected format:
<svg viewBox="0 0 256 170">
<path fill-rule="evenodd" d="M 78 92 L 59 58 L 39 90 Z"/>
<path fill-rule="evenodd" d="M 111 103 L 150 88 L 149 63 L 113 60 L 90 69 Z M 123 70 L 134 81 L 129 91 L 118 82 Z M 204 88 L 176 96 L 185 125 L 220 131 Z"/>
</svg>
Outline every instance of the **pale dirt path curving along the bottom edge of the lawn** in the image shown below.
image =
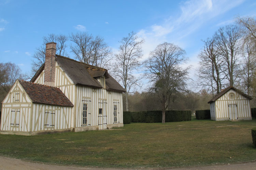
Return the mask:
<svg viewBox="0 0 256 170">
<path fill-rule="evenodd" d="M 6 158 L 1 156 L 0 156 L 0 169 L 1 170 L 52 170 L 52 169 L 54 170 L 82 170 L 82 169 L 84 170 L 117 170 L 113 168 L 81 168 L 81 167 L 45 165 L 45 164 L 39 164 L 39 163 L 25 162 L 23 160 Z M 255 169 L 256 169 L 256 162 L 246 163 L 246 164 L 197 167 L 197 168 L 179 168 L 179 169 L 170 169 L 170 170 L 255 170 Z M 122 169 L 122 170 L 131 170 L 131 169 Z"/>
</svg>

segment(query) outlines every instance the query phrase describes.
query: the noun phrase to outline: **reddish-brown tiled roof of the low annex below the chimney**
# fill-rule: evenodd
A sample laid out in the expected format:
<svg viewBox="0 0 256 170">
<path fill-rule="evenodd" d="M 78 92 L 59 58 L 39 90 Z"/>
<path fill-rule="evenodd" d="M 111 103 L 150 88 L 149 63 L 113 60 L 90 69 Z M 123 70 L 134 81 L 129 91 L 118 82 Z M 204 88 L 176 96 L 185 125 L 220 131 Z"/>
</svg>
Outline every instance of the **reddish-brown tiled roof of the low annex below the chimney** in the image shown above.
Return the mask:
<svg viewBox="0 0 256 170">
<path fill-rule="evenodd" d="M 32 102 L 59 106 L 74 106 L 71 101 L 63 94 L 63 92 L 57 87 L 31 83 L 24 80 L 18 81 Z"/>
</svg>

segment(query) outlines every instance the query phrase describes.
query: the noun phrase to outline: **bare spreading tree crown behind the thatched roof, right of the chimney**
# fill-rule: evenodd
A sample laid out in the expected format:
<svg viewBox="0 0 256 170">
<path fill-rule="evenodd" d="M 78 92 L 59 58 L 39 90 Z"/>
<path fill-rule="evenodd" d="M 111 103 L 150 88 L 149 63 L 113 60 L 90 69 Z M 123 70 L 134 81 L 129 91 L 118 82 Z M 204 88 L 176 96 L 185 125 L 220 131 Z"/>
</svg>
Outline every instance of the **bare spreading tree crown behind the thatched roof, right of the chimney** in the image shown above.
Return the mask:
<svg viewBox="0 0 256 170">
<path fill-rule="evenodd" d="M 104 67 L 108 69 L 112 57 L 111 48 L 104 42 L 102 37 L 79 32 L 70 35 L 70 40 L 74 43 L 71 46 L 71 51 L 80 62 Z"/>
</svg>

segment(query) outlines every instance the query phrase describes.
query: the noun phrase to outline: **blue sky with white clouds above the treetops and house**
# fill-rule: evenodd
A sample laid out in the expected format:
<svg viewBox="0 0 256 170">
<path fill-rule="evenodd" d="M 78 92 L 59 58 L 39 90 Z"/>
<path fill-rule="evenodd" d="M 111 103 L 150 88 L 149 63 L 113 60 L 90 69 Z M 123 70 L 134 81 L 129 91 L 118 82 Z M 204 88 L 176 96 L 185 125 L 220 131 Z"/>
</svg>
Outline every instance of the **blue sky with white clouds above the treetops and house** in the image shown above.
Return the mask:
<svg viewBox="0 0 256 170">
<path fill-rule="evenodd" d="M 255 9 L 255 0 L 0 0 L 0 62 L 29 71 L 35 48 L 49 33 L 87 31 L 116 51 L 118 41 L 135 31 L 146 40 L 143 60 L 158 44 L 174 43 L 186 51 L 194 79 L 201 40 L 237 16 L 255 17 Z"/>
</svg>

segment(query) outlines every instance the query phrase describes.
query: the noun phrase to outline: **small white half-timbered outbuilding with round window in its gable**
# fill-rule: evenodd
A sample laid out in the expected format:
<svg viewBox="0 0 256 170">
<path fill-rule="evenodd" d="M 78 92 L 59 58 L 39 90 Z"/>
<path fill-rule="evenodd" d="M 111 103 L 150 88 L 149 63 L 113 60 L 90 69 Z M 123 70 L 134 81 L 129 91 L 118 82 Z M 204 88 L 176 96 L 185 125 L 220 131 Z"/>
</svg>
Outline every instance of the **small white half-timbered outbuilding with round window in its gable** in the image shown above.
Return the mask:
<svg viewBox="0 0 256 170">
<path fill-rule="evenodd" d="M 208 102 L 211 120 L 252 120 L 250 100 L 233 86 L 224 89 Z"/>
</svg>

